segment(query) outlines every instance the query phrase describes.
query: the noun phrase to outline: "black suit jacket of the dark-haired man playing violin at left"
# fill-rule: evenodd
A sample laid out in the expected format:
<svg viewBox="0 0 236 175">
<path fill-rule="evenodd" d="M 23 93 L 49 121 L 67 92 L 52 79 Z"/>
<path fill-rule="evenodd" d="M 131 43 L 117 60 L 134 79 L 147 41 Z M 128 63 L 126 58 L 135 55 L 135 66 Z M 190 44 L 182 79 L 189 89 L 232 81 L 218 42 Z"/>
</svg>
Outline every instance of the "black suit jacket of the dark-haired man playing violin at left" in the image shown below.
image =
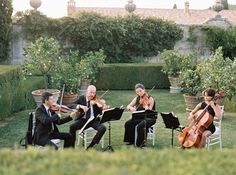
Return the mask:
<svg viewBox="0 0 236 175">
<path fill-rule="evenodd" d="M 49 140 L 51 133 L 59 132 L 57 124 L 61 125 L 72 120 L 70 116 L 60 118 L 55 112 L 51 112 L 51 117 L 48 115 L 46 108 L 42 104 L 35 111 L 36 125 L 34 130 L 34 143 L 44 146 Z M 53 125 L 53 128 L 52 128 Z"/>
</svg>

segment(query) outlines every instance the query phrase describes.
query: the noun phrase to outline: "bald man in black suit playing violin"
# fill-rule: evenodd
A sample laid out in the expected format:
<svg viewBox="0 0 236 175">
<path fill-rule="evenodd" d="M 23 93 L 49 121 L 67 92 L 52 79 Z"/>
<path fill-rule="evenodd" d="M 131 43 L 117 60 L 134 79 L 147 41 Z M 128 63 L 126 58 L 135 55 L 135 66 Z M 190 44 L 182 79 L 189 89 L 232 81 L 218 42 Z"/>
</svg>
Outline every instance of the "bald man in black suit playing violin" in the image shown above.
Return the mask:
<svg viewBox="0 0 236 175">
<path fill-rule="evenodd" d="M 80 96 L 79 99 L 73 102 L 71 107 L 81 112 L 81 116 L 70 126 L 70 133 L 73 136 L 74 142 L 76 139 L 76 131 L 81 129 L 89 118 L 91 119 L 94 117 L 94 119 L 85 127 L 85 129 L 92 127 L 97 130 L 92 142 L 87 147 L 87 149 L 92 148 L 95 144 L 99 143 L 106 132 L 106 127 L 103 124 L 100 124 L 99 118 L 97 118 L 97 116 L 102 113 L 105 104 L 97 102 L 96 87 L 94 85 L 88 86 L 86 95 Z"/>
</svg>

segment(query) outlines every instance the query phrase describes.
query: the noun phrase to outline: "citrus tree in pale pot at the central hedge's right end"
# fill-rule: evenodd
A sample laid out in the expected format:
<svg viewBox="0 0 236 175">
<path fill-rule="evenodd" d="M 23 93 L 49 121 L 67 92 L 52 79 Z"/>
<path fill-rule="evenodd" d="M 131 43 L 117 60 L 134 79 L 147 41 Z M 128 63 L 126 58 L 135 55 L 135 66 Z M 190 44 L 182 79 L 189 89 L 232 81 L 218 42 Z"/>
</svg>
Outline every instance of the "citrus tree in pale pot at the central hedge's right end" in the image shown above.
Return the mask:
<svg viewBox="0 0 236 175">
<path fill-rule="evenodd" d="M 179 75 L 181 71 L 191 67 L 193 54 L 181 55 L 176 50 L 165 50 L 160 54 L 160 57 L 163 61 L 162 71 L 168 75 L 170 81 L 170 92 L 180 93 Z"/>
</svg>

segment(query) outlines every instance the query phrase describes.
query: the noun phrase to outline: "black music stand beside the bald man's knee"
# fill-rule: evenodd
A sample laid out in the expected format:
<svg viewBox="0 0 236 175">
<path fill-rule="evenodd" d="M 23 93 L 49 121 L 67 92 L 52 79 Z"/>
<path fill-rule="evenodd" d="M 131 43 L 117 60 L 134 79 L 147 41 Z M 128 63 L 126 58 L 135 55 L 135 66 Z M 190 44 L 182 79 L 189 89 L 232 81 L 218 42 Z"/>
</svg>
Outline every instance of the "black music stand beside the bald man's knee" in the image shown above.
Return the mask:
<svg viewBox="0 0 236 175">
<path fill-rule="evenodd" d="M 111 121 L 120 120 L 122 114 L 124 112 L 124 109 L 122 108 L 112 108 L 107 109 L 103 111 L 103 114 L 100 116 L 101 121 L 100 123 L 108 122 L 108 146 L 104 149 L 104 151 L 114 151 L 114 149 L 111 146 Z"/>
</svg>

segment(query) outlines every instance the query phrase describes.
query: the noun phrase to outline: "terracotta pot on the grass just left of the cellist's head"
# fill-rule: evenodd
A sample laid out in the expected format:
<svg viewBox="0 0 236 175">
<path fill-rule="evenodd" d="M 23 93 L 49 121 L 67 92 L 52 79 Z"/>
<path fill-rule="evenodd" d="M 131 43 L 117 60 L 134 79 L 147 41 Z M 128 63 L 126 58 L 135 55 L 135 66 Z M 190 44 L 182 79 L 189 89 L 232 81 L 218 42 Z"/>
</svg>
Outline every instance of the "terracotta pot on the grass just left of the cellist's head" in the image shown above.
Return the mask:
<svg viewBox="0 0 236 175">
<path fill-rule="evenodd" d="M 202 96 L 189 96 L 184 94 L 184 101 L 185 101 L 185 105 L 186 105 L 186 111 L 192 111 L 196 105 L 200 102 L 203 101 L 203 97 Z"/>
</svg>

